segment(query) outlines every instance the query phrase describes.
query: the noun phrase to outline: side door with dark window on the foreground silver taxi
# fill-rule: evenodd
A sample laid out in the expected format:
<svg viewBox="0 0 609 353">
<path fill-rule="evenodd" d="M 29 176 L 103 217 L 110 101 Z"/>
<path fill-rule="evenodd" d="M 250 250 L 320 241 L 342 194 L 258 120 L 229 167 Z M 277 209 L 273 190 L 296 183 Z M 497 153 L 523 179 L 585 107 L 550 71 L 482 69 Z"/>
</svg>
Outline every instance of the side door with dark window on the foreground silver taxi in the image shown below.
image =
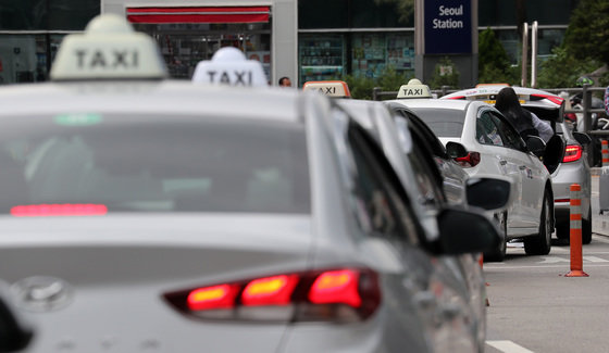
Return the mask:
<svg viewBox="0 0 609 353">
<path fill-rule="evenodd" d="M 400 283 L 394 289 L 411 295 L 400 300 L 417 308 L 435 351 L 473 351 L 476 340 L 469 326 L 473 314 L 465 301 L 467 285 L 447 262 L 424 251 L 427 237 L 411 201 L 373 139 L 352 124 L 348 146 L 357 171 L 353 184 L 360 224 L 371 237 L 390 241 L 403 264 Z M 423 182 L 433 187 L 430 181 Z"/>
</svg>

